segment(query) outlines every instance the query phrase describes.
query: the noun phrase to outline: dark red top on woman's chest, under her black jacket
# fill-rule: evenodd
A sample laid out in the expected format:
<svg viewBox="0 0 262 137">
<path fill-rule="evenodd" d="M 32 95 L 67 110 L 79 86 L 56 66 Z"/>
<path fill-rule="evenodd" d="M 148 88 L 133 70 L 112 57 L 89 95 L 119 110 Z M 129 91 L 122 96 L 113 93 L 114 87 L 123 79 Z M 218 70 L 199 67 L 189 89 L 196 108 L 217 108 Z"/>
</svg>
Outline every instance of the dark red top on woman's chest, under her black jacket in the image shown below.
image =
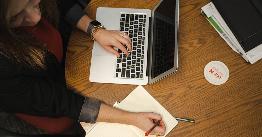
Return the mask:
<svg viewBox="0 0 262 137">
<path fill-rule="evenodd" d="M 53 53 L 61 64 L 63 58 L 62 38 L 59 31 L 45 18 L 41 17 L 45 27 L 40 25 L 25 26 L 25 29 L 34 32 L 34 36 L 43 44 L 50 45 L 48 50 Z"/>
</svg>

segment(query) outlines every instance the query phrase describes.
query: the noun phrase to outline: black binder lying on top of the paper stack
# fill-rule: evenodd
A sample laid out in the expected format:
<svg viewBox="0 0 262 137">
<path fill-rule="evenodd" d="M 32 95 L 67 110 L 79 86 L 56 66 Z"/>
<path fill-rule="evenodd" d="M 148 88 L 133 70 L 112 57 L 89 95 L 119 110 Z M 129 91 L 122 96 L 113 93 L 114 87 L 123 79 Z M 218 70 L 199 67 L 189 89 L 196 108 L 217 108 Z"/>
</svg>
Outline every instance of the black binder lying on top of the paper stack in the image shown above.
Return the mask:
<svg viewBox="0 0 262 137">
<path fill-rule="evenodd" d="M 245 52 L 262 43 L 262 1 L 212 0 Z"/>
</svg>

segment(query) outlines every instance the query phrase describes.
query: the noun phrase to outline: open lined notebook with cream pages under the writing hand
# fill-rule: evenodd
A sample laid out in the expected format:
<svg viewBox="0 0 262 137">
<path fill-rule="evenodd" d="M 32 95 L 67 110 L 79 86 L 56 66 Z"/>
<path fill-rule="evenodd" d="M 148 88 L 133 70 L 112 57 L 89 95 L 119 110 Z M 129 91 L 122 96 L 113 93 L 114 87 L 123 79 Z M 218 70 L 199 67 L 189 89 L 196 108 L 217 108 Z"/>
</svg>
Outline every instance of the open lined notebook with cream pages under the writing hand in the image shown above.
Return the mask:
<svg viewBox="0 0 262 137">
<path fill-rule="evenodd" d="M 155 112 L 160 114 L 162 116 L 163 122 L 166 125 L 166 134 L 161 137 L 165 137 L 178 124 L 177 120 L 141 85 L 135 88 L 127 97 L 125 97 L 122 102 L 116 106 L 116 108 L 132 112 Z M 86 134 L 86 137 L 144 137 L 145 133 L 145 131 L 132 125 L 99 122 Z M 156 135 L 148 136 L 155 137 Z"/>
</svg>

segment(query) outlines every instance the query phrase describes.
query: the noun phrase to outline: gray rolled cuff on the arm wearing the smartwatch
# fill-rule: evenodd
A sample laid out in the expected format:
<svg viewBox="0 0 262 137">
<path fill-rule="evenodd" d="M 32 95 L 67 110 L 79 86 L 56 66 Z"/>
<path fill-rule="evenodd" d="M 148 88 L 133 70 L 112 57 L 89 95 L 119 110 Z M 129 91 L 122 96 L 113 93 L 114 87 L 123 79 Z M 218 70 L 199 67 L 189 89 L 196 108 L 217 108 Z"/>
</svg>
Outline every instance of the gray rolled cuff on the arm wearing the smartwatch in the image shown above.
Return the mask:
<svg viewBox="0 0 262 137">
<path fill-rule="evenodd" d="M 70 27 L 74 29 L 78 21 L 85 14 L 86 12 L 78 4 L 75 4 L 72 8 L 69 9 L 69 11 L 64 17 L 64 20 L 68 25 L 70 25 Z"/>
</svg>

